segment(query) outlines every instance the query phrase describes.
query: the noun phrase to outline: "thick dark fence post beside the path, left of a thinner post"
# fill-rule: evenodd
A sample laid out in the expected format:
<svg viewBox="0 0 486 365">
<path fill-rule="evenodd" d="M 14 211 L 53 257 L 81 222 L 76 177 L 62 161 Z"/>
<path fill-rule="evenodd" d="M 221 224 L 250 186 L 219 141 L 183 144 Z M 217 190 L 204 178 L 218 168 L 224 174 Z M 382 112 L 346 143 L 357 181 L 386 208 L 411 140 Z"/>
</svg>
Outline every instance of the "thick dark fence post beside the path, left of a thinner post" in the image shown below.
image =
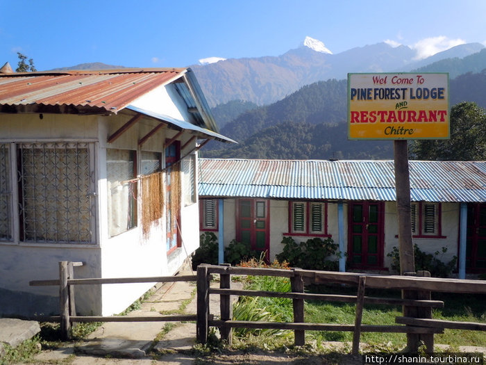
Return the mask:
<svg viewBox="0 0 486 365">
<path fill-rule="evenodd" d="M 205 344 L 208 342 L 208 317 L 209 317 L 209 283 L 208 267 L 205 264 L 197 267 L 197 322 L 196 340 Z"/>
</svg>

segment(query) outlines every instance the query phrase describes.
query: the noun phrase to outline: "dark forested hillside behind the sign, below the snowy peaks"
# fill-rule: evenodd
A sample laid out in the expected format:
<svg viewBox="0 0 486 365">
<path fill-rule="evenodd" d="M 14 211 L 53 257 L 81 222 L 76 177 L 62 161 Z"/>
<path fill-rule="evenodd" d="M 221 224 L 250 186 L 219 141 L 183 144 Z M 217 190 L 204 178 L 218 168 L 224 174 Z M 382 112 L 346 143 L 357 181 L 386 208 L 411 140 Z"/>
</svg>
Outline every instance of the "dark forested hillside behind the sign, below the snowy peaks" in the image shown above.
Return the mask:
<svg viewBox="0 0 486 365">
<path fill-rule="evenodd" d="M 392 159 L 387 140 L 348 140 L 346 80 L 304 86 L 269 106 L 226 120 L 220 132 L 238 145 L 212 143 L 203 157 L 244 159 Z M 449 82 L 450 106 L 462 101 L 486 108 L 486 70 Z M 236 102 L 234 105 L 240 106 Z M 249 104 L 246 104 L 249 107 Z M 231 117 L 231 108 L 226 117 Z M 234 115 L 237 115 L 235 113 Z"/>
</svg>

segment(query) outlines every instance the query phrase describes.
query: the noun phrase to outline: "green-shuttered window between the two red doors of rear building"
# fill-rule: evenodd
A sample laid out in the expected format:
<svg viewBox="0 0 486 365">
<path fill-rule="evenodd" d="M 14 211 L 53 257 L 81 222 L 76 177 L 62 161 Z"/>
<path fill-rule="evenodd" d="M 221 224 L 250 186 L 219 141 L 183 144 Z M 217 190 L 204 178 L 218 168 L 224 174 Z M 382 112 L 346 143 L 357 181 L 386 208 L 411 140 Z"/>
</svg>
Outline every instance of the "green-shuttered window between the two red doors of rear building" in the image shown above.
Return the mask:
<svg viewBox="0 0 486 365">
<path fill-rule="evenodd" d="M 289 231 L 294 236 L 328 236 L 327 203 L 290 202 Z"/>
</svg>

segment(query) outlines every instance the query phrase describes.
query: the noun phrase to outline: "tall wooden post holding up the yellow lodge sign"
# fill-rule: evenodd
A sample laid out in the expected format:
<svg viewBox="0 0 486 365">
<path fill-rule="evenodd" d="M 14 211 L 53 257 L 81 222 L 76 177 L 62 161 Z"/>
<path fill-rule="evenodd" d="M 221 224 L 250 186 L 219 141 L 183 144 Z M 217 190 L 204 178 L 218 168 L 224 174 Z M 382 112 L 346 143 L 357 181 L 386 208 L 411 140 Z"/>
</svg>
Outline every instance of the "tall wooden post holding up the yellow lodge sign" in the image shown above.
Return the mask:
<svg viewBox="0 0 486 365">
<path fill-rule="evenodd" d="M 394 141 L 395 188 L 396 188 L 396 215 L 399 224 L 399 252 L 400 273 L 415 272 L 414 250 L 412 242 L 412 223 L 410 220 L 410 172 L 408 170 L 407 140 Z M 402 291 L 403 299 L 416 299 L 415 291 Z M 417 310 L 414 307 L 403 306 L 403 316 L 415 317 Z M 409 351 L 417 351 L 419 339 L 417 334 L 407 334 Z"/>
</svg>

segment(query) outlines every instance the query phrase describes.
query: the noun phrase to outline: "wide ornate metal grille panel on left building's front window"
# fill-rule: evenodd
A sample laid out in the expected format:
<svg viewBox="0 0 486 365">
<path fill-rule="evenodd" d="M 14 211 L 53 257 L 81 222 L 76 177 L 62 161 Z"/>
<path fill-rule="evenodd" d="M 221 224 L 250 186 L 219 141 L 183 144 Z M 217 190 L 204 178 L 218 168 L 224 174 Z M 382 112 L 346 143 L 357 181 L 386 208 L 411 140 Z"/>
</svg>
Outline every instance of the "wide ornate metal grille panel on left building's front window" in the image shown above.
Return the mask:
<svg viewBox="0 0 486 365">
<path fill-rule="evenodd" d="M 17 146 L 21 241 L 91 243 L 88 143 Z"/>
</svg>

